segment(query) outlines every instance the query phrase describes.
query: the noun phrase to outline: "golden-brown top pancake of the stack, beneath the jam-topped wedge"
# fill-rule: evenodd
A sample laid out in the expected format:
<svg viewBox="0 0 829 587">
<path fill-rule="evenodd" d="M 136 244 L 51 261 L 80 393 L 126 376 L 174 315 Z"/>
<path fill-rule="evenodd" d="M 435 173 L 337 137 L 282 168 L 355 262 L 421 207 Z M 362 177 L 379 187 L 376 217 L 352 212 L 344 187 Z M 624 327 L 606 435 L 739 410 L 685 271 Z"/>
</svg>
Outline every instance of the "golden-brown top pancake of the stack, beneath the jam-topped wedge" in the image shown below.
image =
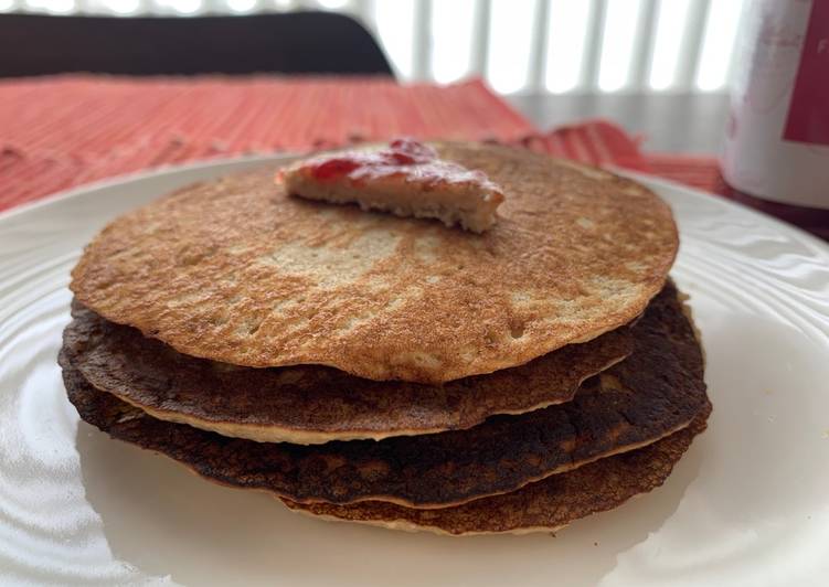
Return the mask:
<svg viewBox="0 0 829 587">
<path fill-rule="evenodd" d="M 184 354 L 421 383 L 588 341 L 661 289 L 678 236 L 646 188 L 527 150 L 436 148 L 504 189 L 486 234 L 291 198 L 272 168 L 117 218 L 71 288 Z"/>
</svg>

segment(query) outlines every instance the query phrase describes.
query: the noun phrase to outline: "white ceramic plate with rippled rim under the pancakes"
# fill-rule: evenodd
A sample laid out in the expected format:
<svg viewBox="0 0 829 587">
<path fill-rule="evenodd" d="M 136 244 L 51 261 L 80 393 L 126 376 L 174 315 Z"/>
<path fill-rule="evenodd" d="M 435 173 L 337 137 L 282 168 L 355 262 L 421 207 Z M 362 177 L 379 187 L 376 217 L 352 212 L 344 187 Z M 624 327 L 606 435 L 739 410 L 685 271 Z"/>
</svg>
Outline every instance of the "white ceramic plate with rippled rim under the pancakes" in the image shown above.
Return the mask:
<svg viewBox="0 0 829 587">
<path fill-rule="evenodd" d="M 0 584 L 829 584 L 829 247 L 645 177 L 677 213 L 673 275 L 714 414 L 665 487 L 555 537 L 321 522 L 78 423 L 55 355 L 83 245 L 170 189 L 262 161 L 136 175 L 0 217 Z"/>
</svg>

